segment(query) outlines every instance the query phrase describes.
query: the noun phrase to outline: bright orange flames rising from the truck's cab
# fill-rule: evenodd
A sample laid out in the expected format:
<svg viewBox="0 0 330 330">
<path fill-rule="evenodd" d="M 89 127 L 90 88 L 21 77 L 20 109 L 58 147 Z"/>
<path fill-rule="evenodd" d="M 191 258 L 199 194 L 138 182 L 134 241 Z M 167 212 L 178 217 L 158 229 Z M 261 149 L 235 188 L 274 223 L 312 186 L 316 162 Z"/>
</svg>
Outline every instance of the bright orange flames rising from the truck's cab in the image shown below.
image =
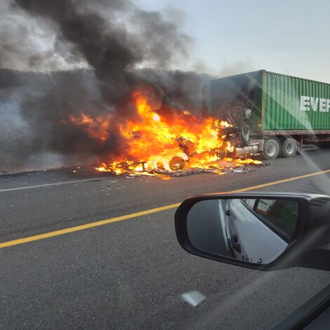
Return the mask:
<svg viewBox="0 0 330 330">
<path fill-rule="evenodd" d="M 194 167 L 208 169 L 210 166 L 220 169 L 219 158 L 234 151 L 230 142 L 224 140 L 225 136 L 220 136 L 223 128 L 231 126 L 226 121 L 212 117 L 203 119 L 187 110 L 171 115 L 157 112 L 152 110 L 143 91 L 133 92 L 133 101 L 137 119 L 112 123 L 117 125 L 126 148 L 120 157 L 100 164 L 96 168 L 98 171 L 120 174 Z M 102 143 L 109 138 L 112 119 L 112 115 L 92 118 L 81 113 L 81 117 L 70 116 L 62 122 L 81 126 Z"/>
</svg>

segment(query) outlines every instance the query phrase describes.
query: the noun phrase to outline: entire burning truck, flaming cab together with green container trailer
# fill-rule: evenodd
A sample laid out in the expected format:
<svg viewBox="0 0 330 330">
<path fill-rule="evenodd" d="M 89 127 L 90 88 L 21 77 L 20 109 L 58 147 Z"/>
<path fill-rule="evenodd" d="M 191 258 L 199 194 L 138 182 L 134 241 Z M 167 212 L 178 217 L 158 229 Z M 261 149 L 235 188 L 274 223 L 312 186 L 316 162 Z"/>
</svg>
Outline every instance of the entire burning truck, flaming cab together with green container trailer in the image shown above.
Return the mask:
<svg viewBox="0 0 330 330">
<path fill-rule="evenodd" d="M 62 121 L 81 126 L 100 145 L 119 141 L 98 171 L 224 173 L 225 162 L 262 164 L 251 157 L 293 157 L 303 143 L 330 146 L 330 84 L 265 70 L 215 79 L 203 90 L 202 116 L 157 105 L 153 92 L 136 88 L 126 117 L 81 113 Z"/>
</svg>

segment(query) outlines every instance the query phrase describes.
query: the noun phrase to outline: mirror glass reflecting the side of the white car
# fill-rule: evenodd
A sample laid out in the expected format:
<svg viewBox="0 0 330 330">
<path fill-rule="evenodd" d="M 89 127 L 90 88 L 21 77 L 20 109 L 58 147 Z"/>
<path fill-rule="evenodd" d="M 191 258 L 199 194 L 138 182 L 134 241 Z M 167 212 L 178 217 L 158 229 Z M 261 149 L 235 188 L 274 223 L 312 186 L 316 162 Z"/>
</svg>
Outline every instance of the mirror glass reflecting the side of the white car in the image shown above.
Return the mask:
<svg viewBox="0 0 330 330">
<path fill-rule="evenodd" d="M 187 232 L 197 249 L 267 264 L 288 246 L 297 215 L 286 199 L 210 199 L 192 206 Z"/>
</svg>

